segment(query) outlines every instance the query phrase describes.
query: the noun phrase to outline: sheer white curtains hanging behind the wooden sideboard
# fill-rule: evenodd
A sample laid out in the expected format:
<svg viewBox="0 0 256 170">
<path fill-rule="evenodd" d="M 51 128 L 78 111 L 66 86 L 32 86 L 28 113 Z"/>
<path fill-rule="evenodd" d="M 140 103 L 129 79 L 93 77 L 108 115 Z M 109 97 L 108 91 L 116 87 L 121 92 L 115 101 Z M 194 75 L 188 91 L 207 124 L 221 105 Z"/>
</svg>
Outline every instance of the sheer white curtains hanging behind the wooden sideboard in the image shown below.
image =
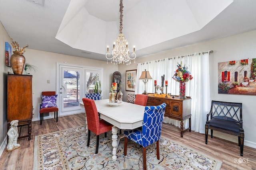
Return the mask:
<svg viewBox="0 0 256 170">
<path fill-rule="evenodd" d="M 148 80 L 146 84 L 146 92 L 154 93 L 154 80 L 161 86 L 161 76 L 165 75 L 168 80 L 167 92 L 172 95 L 179 94 L 179 83 L 172 79 L 177 69 L 177 63 L 186 64 L 191 72 L 193 79 L 186 83 L 186 96 L 192 98 L 191 101 L 191 129 L 192 131 L 204 133 L 204 125 L 206 123 L 206 114 L 210 111 L 210 74 L 209 74 L 209 54 L 194 53 L 184 56 L 165 58 L 161 60 L 148 61 L 139 63 L 137 66 L 136 88 L 135 94 L 144 92 L 144 83 L 139 80 L 141 72 L 145 69 L 149 71 L 152 80 Z M 138 82 L 138 83 L 137 83 Z M 158 91 L 160 93 L 160 91 Z M 164 88 L 165 93 L 165 88 Z M 170 123 L 180 127 L 180 121 L 174 119 L 164 119 L 165 123 Z M 184 127 L 188 128 L 188 120 L 184 121 Z"/>
</svg>

